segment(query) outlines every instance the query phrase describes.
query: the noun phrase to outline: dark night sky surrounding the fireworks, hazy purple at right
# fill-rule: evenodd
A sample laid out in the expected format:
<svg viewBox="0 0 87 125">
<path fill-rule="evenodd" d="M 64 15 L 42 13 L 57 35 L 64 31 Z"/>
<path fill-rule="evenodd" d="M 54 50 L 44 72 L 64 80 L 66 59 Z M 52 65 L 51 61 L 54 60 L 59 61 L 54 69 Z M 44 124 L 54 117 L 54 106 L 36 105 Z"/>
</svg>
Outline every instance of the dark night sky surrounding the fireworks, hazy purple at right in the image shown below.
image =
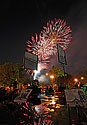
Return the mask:
<svg viewBox="0 0 87 125">
<path fill-rule="evenodd" d="M 26 41 L 54 18 L 64 19 L 72 29 L 66 71 L 87 69 L 87 0 L 0 1 L 0 64 L 22 63 Z"/>
</svg>

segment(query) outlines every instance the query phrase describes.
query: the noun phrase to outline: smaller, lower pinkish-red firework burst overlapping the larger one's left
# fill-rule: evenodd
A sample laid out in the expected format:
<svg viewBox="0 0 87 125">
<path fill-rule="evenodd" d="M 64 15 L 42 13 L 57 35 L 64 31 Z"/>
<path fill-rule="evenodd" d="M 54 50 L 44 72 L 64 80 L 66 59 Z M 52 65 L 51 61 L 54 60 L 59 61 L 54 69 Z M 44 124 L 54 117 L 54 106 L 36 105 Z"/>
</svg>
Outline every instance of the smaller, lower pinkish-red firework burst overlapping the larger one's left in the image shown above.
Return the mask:
<svg viewBox="0 0 87 125">
<path fill-rule="evenodd" d="M 38 36 L 36 34 L 35 38 L 32 36 L 32 41 L 27 41 L 27 51 L 31 52 L 32 54 L 35 54 L 38 56 L 38 61 L 42 63 L 49 62 L 48 59 L 50 58 L 48 56 L 48 52 L 50 52 L 48 48 L 49 44 L 47 45 L 47 42 L 42 41 L 41 39 L 38 40 Z M 51 53 L 50 53 L 51 55 Z"/>
</svg>

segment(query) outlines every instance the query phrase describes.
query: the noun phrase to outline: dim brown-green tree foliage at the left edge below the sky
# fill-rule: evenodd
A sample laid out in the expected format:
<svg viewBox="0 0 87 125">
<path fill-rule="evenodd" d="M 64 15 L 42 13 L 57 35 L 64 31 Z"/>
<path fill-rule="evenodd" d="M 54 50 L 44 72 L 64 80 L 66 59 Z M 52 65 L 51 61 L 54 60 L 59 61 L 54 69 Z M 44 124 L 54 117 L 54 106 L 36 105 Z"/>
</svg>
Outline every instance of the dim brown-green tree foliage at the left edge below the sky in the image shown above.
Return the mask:
<svg viewBox="0 0 87 125">
<path fill-rule="evenodd" d="M 0 84 L 1 85 L 12 85 L 12 83 L 17 79 L 18 82 L 24 82 L 24 69 L 21 64 L 13 64 L 11 62 L 6 62 L 0 65 Z"/>
</svg>

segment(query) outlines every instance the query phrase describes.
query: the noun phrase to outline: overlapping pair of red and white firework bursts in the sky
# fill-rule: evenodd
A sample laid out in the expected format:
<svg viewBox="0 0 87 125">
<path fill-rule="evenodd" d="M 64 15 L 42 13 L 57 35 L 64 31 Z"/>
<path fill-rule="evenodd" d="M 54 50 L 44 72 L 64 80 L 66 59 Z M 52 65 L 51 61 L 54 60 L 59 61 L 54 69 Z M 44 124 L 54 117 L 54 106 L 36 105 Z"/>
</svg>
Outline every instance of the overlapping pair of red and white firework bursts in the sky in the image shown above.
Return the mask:
<svg viewBox="0 0 87 125">
<path fill-rule="evenodd" d="M 43 27 L 39 37 L 36 34 L 35 38 L 32 36 L 32 42 L 27 42 L 27 50 L 38 55 L 39 62 L 47 63 L 50 56 L 57 53 L 58 44 L 67 49 L 72 39 L 71 32 L 64 20 L 51 20 L 47 22 L 47 27 Z"/>
</svg>

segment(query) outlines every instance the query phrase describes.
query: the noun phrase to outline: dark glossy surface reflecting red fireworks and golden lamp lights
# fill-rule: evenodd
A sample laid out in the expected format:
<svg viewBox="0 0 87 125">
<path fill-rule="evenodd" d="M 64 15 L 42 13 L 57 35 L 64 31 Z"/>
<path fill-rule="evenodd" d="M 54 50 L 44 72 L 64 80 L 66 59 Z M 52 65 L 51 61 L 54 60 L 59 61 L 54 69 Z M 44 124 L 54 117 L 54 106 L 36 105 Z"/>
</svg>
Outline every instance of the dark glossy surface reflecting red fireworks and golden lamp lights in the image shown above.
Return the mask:
<svg viewBox="0 0 87 125">
<path fill-rule="evenodd" d="M 64 107 L 64 93 L 55 95 L 39 95 L 40 104 L 32 105 L 25 102 L 20 108 L 20 124 L 27 125 L 54 125 L 55 116 Z M 34 99 L 34 98 L 33 98 Z M 36 100 L 35 100 L 36 101 Z M 34 102 L 34 101 L 32 101 Z M 18 114 L 18 113 L 17 113 Z M 56 124 L 55 124 L 56 125 Z M 57 124 L 58 125 L 58 124 Z"/>
</svg>

